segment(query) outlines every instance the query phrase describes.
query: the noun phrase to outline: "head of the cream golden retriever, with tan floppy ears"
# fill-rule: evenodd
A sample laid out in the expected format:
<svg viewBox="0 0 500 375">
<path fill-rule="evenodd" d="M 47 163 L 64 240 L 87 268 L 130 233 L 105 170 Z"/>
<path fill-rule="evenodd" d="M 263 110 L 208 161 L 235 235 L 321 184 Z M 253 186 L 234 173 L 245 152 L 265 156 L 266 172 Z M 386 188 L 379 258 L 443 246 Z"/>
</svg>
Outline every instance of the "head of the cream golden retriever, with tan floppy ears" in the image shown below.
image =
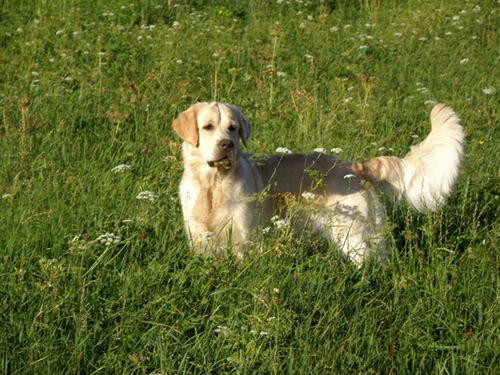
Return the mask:
<svg viewBox="0 0 500 375">
<path fill-rule="evenodd" d="M 231 168 L 238 162 L 239 139 L 247 146 L 252 125 L 240 109 L 225 103 L 198 103 L 172 123 L 179 137 L 200 152 L 209 167 Z"/>
</svg>

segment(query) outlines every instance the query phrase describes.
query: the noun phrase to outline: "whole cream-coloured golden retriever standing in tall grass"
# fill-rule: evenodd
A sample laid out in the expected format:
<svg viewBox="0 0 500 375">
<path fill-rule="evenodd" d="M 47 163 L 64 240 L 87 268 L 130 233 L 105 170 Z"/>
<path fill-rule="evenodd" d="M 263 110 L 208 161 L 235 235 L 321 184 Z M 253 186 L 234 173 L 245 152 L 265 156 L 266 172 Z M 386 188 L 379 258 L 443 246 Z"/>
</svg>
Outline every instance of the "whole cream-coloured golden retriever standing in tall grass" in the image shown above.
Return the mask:
<svg viewBox="0 0 500 375">
<path fill-rule="evenodd" d="M 297 233 L 324 239 L 358 266 L 370 258 L 386 262 L 385 207 L 377 191 L 405 198 L 416 211 L 434 211 L 458 177 L 465 141 L 460 119 L 437 104 L 430 120 L 430 134 L 402 159 L 348 162 L 321 152 L 253 157 L 242 152 L 252 125 L 238 107 L 194 104 L 172 123 L 184 140 L 179 197 L 188 240 L 200 253 L 220 255 L 229 245 L 243 257 L 252 230 L 290 218 L 286 209 L 275 216 L 273 197 L 291 196 L 303 202 L 289 221 Z"/>
</svg>

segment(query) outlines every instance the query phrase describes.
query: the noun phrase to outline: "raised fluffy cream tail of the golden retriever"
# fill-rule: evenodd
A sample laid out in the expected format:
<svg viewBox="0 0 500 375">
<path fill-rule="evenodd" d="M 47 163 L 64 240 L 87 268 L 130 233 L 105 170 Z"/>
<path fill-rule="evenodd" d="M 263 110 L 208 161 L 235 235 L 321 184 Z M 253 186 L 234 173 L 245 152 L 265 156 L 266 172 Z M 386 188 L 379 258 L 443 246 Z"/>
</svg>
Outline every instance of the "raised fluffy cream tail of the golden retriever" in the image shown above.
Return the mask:
<svg viewBox="0 0 500 375">
<path fill-rule="evenodd" d="M 403 158 L 380 156 L 351 168 L 375 185 L 388 186 L 417 211 L 445 204 L 458 177 L 465 135 L 456 113 L 444 104 L 431 112 L 432 131 Z"/>
</svg>

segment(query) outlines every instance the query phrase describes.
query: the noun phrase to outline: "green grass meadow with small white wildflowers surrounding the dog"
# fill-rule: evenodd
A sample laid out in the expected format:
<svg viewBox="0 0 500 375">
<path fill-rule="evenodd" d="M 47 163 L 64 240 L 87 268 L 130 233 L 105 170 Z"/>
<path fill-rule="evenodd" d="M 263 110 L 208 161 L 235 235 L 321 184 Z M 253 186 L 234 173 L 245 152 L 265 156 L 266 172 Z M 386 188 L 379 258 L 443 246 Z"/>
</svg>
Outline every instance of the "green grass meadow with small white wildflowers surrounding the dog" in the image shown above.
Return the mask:
<svg viewBox="0 0 500 375">
<path fill-rule="evenodd" d="M 500 4 L 130 3 L 1 7 L 0 372 L 500 373 Z M 170 128 L 209 100 L 253 153 L 349 160 L 403 156 L 444 102 L 464 166 L 442 211 L 388 212 L 383 269 L 280 232 L 214 261 L 183 234 Z"/>
</svg>

